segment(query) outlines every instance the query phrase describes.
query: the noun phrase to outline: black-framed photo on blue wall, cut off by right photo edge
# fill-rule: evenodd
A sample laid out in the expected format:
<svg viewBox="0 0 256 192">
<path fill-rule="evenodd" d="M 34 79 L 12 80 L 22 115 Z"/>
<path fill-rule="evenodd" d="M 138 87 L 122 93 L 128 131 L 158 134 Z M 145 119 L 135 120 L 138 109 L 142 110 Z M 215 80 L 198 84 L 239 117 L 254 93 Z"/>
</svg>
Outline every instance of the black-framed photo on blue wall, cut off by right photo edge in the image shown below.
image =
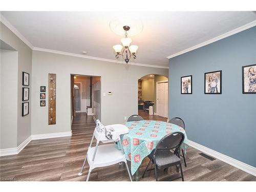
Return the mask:
<svg viewBox="0 0 256 192">
<path fill-rule="evenodd" d="M 256 94 L 256 64 L 242 67 L 243 94 Z"/>
</svg>

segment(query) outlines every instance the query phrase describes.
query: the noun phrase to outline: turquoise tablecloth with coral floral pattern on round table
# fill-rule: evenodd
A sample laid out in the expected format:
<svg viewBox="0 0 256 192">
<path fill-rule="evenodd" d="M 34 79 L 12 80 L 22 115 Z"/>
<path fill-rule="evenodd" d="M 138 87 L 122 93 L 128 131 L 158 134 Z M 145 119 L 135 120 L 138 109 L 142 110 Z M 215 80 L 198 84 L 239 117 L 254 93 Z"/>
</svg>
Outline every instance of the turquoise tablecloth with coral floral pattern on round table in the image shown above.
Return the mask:
<svg viewBox="0 0 256 192">
<path fill-rule="evenodd" d="M 131 121 L 124 123 L 129 129 L 129 134 L 121 135 L 123 151 L 127 160 L 131 161 L 132 175 L 139 168 L 142 160 L 156 147 L 157 143 L 167 134 L 182 132 L 185 135 L 181 145 L 186 152 L 187 136 L 182 127 L 164 121 Z M 120 149 L 120 146 L 116 146 Z"/>
</svg>

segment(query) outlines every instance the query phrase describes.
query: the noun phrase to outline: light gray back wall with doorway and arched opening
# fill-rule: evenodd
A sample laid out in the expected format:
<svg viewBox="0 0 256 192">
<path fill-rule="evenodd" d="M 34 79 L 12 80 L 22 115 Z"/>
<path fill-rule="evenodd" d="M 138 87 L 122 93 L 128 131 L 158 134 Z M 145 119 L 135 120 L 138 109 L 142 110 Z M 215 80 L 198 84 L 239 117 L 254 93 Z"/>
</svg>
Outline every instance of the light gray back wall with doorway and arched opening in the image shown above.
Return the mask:
<svg viewBox="0 0 256 192">
<path fill-rule="evenodd" d="M 138 78 L 167 76 L 168 69 L 132 66 L 55 53 L 33 51 L 32 134 L 67 132 L 70 127 L 70 74 L 101 76 L 101 120 L 122 123 L 138 112 Z M 47 107 L 39 106 L 39 88 L 48 86 L 48 73 L 56 73 L 56 125 L 48 125 Z M 103 93 L 113 92 L 112 96 Z M 48 93 L 47 93 L 48 99 Z"/>
</svg>

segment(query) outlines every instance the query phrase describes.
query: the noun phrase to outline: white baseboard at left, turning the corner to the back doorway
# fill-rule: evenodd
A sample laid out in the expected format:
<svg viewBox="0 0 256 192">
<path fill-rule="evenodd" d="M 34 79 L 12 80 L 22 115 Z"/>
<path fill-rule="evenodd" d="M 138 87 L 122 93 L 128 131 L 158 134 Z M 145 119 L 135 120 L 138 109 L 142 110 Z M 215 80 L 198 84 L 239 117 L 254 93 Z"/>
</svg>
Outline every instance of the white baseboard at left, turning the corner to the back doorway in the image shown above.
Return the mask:
<svg viewBox="0 0 256 192">
<path fill-rule="evenodd" d="M 17 155 L 20 151 L 23 150 L 23 148 L 25 146 L 27 146 L 27 144 L 29 144 L 29 142 L 31 140 L 50 139 L 50 138 L 68 137 L 68 136 L 72 136 L 72 131 L 60 132 L 60 133 L 49 133 L 49 134 L 31 135 L 25 141 L 23 141 L 18 147 L 4 148 L 3 150 L 0 150 L 0 157 L 7 156 L 7 155 Z"/>
</svg>

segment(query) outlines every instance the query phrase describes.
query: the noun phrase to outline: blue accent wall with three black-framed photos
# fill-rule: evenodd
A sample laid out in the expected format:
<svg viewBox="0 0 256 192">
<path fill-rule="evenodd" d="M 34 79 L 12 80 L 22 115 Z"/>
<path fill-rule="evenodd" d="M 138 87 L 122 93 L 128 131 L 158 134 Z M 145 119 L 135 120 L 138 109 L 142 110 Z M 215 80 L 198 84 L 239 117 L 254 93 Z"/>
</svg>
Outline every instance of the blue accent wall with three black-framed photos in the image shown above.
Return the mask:
<svg viewBox="0 0 256 192">
<path fill-rule="evenodd" d="M 256 167 L 256 94 L 242 94 L 242 66 L 256 63 L 256 27 L 169 59 L 168 116 L 189 140 Z M 204 94 L 204 73 L 222 70 L 222 94 Z M 180 78 L 193 75 L 193 94 Z"/>
</svg>

